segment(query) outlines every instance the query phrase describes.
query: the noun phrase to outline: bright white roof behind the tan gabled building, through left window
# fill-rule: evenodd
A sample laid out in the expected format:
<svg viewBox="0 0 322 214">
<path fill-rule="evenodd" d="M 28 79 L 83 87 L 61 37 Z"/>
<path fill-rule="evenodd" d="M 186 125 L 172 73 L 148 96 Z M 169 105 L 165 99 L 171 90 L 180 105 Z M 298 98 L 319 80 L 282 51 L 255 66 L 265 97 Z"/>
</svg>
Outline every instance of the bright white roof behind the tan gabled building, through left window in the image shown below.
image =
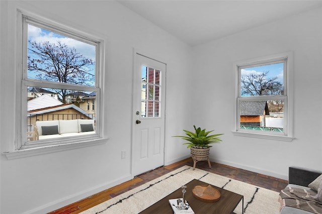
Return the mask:
<svg viewBox="0 0 322 214">
<path fill-rule="evenodd" d="M 44 109 L 52 106 L 62 105 L 63 102 L 57 100 L 56 98 L 44 94 L 41 96 L 38 96 L 34 99 L 31 99 L 27 102 L 27 111 L 33 111 L 38 109 Z"/>
</svg>

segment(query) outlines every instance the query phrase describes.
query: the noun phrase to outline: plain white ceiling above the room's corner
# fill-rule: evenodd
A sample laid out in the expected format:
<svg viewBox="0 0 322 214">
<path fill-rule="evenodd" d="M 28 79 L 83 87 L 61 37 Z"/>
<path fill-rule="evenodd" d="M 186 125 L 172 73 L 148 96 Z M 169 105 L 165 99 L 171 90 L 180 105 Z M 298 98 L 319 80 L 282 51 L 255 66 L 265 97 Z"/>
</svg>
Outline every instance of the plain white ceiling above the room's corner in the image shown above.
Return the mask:
<svg viewBox="0 0 322 214">
<path fill-rule="evenodd" d="M 118 2 L 191 46 L 322 7 L 321 0 Z"/>
</svg>

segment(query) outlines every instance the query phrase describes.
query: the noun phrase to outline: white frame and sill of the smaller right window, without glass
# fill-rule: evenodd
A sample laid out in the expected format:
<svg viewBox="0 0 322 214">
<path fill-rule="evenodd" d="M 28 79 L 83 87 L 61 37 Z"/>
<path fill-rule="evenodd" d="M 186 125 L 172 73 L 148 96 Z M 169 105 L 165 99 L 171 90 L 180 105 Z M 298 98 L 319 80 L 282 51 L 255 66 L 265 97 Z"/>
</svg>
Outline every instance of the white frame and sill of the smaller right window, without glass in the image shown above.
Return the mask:
<svg viewBox="0 0 322 214">
<path fill-rule="evenodd" d="M 241 96 L 240 79 L 241 69 L 246 67 L 261 66 L 267 64 L 276 64 L 284 62 L 284 74 L 283 95 L 262 95 L 262 96 Z M 293 93 L 293 53 L 285 52 L 280 54 L 274 54 L 265 57 L 253 58 L 233 63 L 233 69 L 236 73 L 236 96 L 235 96 L 235 128 L 232 133 L 236 136 L 255 137 L 262 139 L 292 141 L 293 138 L 293 105 L 292 105 L 292 93 Z M 242 100 L 284 100 L 284 125 L 283 133 L 258 131 L 258 130 L 246 130 L 240 129 L 240 106 L 239 103 Z"/>
</svg>

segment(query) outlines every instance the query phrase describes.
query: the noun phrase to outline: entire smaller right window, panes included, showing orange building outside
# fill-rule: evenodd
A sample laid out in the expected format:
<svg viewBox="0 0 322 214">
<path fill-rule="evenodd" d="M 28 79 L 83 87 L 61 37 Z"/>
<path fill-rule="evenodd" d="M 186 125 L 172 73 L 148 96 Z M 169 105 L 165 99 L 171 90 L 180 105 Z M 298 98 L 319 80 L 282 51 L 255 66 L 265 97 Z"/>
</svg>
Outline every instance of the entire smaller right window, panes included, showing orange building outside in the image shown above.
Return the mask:
<svg viewBox="0 0 322 214">
<path fill-rule="evenodd" d="M 291 53 L 235 64 L 237 135 L 290 141 Z"/>
</svg>

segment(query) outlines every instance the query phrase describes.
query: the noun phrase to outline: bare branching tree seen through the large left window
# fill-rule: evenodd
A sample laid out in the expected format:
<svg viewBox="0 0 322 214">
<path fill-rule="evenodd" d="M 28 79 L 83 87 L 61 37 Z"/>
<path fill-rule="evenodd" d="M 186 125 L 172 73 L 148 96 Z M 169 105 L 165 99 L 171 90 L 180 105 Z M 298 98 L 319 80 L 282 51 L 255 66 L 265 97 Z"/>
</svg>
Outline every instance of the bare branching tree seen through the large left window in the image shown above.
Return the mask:
<svg viewBox="0 0 322 214">
<path fill-rule="evenodd" d="M 28 43 L 28 70 L 34 71 L 36 79 L 80 85 L 93 85 L 95 82 L 95 75 L 91 73 L 95 61 L 74 48 L 60 41 L 37 43 L 29 40 Z M 67 90 L 59 89 L 57 93 L 65 102 Z"/>
</svg>

